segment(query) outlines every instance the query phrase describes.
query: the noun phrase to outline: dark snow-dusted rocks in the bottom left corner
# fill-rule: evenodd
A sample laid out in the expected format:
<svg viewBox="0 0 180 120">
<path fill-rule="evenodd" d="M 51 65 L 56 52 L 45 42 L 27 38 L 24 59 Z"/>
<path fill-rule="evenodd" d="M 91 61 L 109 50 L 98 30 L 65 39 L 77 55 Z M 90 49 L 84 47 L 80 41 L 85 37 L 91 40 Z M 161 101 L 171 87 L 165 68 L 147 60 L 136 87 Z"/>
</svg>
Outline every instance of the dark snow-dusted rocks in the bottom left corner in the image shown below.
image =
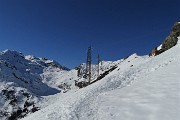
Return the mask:
<svg viewBox="0 0 180 120">
<path fill-rule="evenodd" d="M 39 110 L 32 100 L 32 94 L 25 89 L 17 91 L 14 88 L 6 88 L 1 92 L 1 99 L 6 101 L 6 107 L 0 108 L 1 120 L 17 120 Z"/>
</svg>

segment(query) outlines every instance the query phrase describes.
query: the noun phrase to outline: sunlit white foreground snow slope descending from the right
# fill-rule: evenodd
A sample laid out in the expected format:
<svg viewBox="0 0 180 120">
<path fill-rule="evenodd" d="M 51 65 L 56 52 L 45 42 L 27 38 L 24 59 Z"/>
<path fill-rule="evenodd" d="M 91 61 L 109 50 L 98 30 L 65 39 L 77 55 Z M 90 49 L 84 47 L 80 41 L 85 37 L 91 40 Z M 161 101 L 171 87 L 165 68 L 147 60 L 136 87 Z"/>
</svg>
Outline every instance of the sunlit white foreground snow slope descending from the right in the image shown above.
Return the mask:
<svg viewBox="0 0 180 120">
<path fill-rule="evenodd" d="M 22 120 L 180 120 L 180 43 L 155 57 L 112 63 L 118 67 L 100 81 L 44 96 L 44 108 Z"/>
</svg>

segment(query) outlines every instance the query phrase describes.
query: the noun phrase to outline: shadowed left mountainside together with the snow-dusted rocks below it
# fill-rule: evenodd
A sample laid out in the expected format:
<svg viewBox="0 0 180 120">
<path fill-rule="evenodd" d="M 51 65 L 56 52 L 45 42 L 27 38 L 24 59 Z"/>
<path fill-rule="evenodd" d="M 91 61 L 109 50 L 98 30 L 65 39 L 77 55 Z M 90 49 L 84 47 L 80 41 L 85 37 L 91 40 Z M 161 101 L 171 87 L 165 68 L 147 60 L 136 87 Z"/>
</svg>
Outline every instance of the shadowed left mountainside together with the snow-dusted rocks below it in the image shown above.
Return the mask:
<svg viewBox="0 0 180 120">
<path fill-rule="evenodd" d="M 42 75 L 46 69 L 67 71 L 53 60 L 24 56 L 11 50 L 0 52 L 0 119 L 27 108 L 27 104 L 35 106 L 41 96 L 60 92 L 44 82 L 46 77 Z"/>
</svg>

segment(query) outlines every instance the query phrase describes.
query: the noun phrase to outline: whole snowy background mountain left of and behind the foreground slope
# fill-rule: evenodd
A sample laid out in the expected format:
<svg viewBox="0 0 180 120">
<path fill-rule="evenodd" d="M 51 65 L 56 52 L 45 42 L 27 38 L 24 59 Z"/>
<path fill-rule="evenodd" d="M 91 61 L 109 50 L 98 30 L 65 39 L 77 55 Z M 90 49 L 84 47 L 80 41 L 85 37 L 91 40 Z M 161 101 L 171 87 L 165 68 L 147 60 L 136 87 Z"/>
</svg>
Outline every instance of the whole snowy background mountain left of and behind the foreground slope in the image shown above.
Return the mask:
<svg viewBox="0 0 180 120">
<path fill-rule="evenodd" d="M 109 61 L 101 64 L 100 73 L 115 63 Z M 96 71 L 97 66 L 92 68 Z M 85 71 L 85 65 L 82 71 Z M 54 60 L 25 56 L 11 50 L 0 52 L 0 119 L 23 118 L 47 106 L 51 102 L 49 96 L 78 90 L 74 80 L 82 80 L 84 73 L 78 76 L 77 72 Z M 96 72 L 92 75 L 97 77 Z"/>
</svg>

